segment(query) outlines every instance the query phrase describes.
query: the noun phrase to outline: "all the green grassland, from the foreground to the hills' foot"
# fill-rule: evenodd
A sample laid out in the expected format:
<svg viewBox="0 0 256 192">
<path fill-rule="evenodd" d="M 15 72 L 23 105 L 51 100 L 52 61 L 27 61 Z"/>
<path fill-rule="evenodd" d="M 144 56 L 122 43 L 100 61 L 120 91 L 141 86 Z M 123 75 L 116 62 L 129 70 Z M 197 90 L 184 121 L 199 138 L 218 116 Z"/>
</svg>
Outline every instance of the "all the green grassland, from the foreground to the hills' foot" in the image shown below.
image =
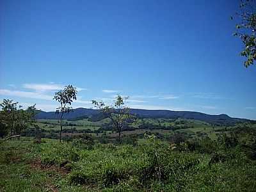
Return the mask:
<svg viewBox="0 0 256 192">
<path fill-rule="evenodd" d="M 62 143 L 58 120 L 0 140 L 0 191 L 255 191 L 255 123 L 138 119 L 122 143 L 108 119 L 64 124 Z"/>
</svg>

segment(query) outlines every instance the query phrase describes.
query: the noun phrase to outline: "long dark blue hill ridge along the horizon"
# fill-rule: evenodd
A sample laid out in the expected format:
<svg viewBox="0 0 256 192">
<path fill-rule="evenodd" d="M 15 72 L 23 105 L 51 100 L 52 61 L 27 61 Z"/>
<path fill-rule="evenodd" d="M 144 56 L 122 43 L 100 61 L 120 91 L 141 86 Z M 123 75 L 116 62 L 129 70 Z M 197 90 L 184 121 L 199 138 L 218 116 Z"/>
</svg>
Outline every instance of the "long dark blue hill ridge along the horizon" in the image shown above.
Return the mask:
<svg viewBox="0 0 256 192">
<path fill-rule="evenodd" d="M 228 125 L 234 124 L 236 122 L 249 121 L 244 118 L 232 118 L 228 115 L 208 115 L 205 113 L 195 112 L 195 111 L 170 111 L 170 110 L 148 110 L 148 109 L 131 109 L 132 115 L 136 115 L 140 118 L 186 118 L 193 120 L 201 120 L 211 124 Z M 56 114 L 54 111 L 45 112 L 40 111 L 36 115 L 36 118 L 45 119 L 58 119 L 60 114 Z M 65 113 L 64 117 L 67 120 L 79 120 L 82 118 L 91 118 L 91 120 L 100 120 L 105 118 L 105 116 L 100 113 L 98 109 L 86 109 L 77 108 L 70 113 Z"/>
</svg>

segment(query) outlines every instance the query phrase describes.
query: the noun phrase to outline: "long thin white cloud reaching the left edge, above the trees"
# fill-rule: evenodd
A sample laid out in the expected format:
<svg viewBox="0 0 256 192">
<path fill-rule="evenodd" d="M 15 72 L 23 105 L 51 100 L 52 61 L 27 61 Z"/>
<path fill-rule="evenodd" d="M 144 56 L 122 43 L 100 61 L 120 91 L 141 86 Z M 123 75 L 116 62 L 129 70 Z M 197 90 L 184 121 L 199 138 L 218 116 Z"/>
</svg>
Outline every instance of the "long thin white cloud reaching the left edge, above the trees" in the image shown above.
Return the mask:
<svg viewBox="0 0 256 192">
<path fill-rule="evenodd" d="M 38 92 L 21 92 L 13 90 L 0 90 L 0 95 L 12 96 L 12 97 L 25 97 L 31 99 L 43 99 L 43 100 L 52 100 L 51 95 L 46 95 L 44 93 Z"/>
</svg>

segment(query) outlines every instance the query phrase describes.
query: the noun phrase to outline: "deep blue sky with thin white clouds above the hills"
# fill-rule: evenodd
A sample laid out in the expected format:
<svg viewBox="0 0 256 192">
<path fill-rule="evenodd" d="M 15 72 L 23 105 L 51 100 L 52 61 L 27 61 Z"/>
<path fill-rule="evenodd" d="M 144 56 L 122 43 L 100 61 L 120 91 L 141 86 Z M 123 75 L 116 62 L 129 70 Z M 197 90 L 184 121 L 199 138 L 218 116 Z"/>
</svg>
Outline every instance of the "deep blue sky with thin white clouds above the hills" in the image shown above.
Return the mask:
<svg viewBox="0 0 256 192">
<path fill-rule="evenodd" d="M 129 95 L 132 108 L 256 120 L 256 68 L 235 29 L 239 1 L 0 1 L 0 99 L 45 111 Z"/>
</svg>

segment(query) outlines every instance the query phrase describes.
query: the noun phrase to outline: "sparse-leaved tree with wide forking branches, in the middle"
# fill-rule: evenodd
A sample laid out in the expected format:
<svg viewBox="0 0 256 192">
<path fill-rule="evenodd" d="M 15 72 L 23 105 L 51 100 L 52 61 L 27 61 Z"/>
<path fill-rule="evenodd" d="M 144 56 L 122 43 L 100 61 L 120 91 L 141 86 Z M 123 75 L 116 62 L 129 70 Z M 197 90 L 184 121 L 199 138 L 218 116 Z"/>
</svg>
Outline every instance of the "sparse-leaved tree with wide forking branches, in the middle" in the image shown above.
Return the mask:
<svg viewBox="0 0 256 192">
<path fill-rule="evenodd" d="M 92 100 L 92 104 L 94 104 L 96 108 L 100 109 L 102 113 L 111 119 L 113 128 L 116 132 L 118 132 L 118 143 L 121 142 L 121 134 L 124 125 L 127 124 L 127 121 L 132 118 L 130 115 L 130 108 L 125 106 L 125 99 L 127 98 L 123 98 L 118 95 L 111 106 L 106 106 L 106 104 L 104 104 L 102 101 Z"/>
</svg>

